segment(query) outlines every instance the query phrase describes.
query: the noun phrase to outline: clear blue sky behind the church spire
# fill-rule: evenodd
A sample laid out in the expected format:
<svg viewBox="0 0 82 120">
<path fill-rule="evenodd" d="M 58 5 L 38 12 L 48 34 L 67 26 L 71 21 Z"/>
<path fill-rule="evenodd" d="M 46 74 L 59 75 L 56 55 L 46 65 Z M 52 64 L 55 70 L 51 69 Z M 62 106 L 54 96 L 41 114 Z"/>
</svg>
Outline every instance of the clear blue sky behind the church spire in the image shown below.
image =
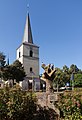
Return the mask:
<svg viewBox="0 0 82 120">
<path fill-rule="evenodd" d="M 42 62 L 82 69 L 82 0 L 0 0 L 0 51 L 15 61 L 28 3 L 33 41 L 40 46 L 40 72 Z"/>
</svg>

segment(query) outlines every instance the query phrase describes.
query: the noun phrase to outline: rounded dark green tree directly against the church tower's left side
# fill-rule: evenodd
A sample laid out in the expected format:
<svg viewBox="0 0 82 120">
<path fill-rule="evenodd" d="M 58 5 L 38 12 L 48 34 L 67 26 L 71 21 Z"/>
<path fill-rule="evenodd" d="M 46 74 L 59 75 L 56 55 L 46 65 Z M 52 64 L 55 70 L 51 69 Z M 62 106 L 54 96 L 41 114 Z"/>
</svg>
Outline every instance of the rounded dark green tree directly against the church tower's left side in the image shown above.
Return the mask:
<svg viewBox="0 0 82 120">
<path fill-rule="evenodd" d="M 4 67 L 3 78 L 5 80 L 16 79 L 16 82 L 19 82 L 23 80 L 25 76 L 24 67 L 18 60 L 16 60 L 12 65 Z"/>
</svg>

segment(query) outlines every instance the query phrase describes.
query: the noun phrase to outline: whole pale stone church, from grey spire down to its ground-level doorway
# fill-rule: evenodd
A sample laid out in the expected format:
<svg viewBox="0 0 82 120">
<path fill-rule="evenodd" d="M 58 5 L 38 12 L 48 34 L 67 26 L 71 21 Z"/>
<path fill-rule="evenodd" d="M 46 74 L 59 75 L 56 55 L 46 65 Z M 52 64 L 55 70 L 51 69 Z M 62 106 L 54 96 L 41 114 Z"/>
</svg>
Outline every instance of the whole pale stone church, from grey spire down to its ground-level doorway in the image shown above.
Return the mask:
<svg viewBox="0 0 82 120">
<path fill-rule="evenodd" d="M 17 48 L 17 60 L 23 64 L 26 72 L 26 77 L 21 82 L 22 88 L 39 91 L 39 46 L 33 42 L 29 13 L 26 18 L 22 43 Z"/>
</svg>

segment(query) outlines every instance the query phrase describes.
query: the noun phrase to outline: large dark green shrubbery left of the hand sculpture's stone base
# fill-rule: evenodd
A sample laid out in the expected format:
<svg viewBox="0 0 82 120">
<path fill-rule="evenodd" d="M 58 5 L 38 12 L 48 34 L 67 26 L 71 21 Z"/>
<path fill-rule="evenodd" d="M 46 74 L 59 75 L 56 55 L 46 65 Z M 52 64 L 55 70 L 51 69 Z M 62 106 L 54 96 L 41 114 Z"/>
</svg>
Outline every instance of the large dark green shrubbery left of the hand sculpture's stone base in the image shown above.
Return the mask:
<svg viewBox="0 0 82 120">
<path fill-rule="evenodd" d="M 0 120 L 54 120 L 56 113 L 37 105 L 34 93 L 20 87 L 0 90 Z"/>
</svg>

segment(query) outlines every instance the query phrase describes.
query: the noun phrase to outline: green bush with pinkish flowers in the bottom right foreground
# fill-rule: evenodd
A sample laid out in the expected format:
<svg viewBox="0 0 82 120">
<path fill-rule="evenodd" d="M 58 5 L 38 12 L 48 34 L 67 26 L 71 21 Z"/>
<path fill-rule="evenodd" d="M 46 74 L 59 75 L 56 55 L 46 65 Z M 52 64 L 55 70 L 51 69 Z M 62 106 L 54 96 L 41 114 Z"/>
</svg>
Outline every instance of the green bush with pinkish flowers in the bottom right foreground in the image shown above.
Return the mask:
<svg viewBox="0 0 82 120">
<path fill-rule="evenodd" d="M 65 120 L 81 120 L 82 91 L 65 92 L 59 95 L 57 103 L 61 118 Z"/>
</svg>

